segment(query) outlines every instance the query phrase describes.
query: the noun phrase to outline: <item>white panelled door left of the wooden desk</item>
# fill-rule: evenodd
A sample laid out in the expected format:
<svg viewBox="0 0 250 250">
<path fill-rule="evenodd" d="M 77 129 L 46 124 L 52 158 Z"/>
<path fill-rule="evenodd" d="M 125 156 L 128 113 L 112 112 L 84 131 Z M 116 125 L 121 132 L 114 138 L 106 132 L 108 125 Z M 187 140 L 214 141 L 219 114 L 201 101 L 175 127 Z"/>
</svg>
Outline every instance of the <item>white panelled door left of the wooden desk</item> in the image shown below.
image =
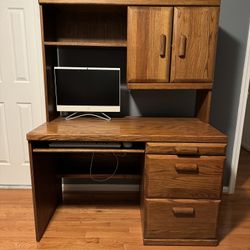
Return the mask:
<svg viewBox="0 0 250 250">
<path fill-rule="evenodd" d="M 26 133 L 45 120 L 37 0 L 0 0 L 0 185 L 30 184 Z"/>
</svg>

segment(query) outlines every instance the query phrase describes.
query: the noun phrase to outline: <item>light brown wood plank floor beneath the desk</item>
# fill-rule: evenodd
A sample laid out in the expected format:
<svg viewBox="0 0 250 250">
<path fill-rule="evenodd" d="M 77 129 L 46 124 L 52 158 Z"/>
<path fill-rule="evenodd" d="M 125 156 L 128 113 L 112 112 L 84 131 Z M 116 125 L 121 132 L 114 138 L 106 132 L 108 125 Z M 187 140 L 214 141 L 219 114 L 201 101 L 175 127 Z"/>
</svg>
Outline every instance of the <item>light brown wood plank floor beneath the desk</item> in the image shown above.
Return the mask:
<svg viewBox="0 0 250 250">
<path fill-rule="evenodd" d="M 250 153 L 242 151 L 237 189 L 224 195 L 218 247 L 142 245 L 136 205 L 64 205 L 36 243 L 31 190 L 0 190 L 0 249 L 247 250 L 250 249 Z"/>
</svg>

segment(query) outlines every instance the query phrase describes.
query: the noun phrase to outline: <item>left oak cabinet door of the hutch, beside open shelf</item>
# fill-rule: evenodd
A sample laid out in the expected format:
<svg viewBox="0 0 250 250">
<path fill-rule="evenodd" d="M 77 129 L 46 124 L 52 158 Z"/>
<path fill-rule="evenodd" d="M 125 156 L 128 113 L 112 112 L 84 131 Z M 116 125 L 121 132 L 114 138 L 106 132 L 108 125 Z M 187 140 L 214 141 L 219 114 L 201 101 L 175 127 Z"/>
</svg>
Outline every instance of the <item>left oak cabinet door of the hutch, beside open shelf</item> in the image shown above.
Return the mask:
<svg viewBox="0 0 250 250">
<path fill-rule="evenodd" d="M 173 8 L 128 8 L 128 82 L 169 82 Z"/>
</svg>

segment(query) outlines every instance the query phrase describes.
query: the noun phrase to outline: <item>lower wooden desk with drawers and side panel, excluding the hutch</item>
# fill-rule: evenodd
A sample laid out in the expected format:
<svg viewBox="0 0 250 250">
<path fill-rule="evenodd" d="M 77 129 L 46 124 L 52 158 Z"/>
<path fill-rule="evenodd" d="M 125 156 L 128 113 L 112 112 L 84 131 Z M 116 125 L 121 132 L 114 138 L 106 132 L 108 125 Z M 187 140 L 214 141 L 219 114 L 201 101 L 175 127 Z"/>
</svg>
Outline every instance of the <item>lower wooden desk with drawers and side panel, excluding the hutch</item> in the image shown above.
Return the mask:
<svg viewBox="0 0 250 250">
<path fill-rule="evenodd" d="M 27 139 L 37 241 L 62 201 L 60 157 L 70 162 L 74 153 L 99 150 L 140 154 L 143 162 L 145 158 L 141 184 L 145 244 L 217 244 L 226 136 L 209 124 L 196 118 L 127 117 L 110 122 L 58 118 L 28 133 Z M 52 141 L 130 141 L 134 146 L 58 149 L 49 147 Z"/>
</svg>

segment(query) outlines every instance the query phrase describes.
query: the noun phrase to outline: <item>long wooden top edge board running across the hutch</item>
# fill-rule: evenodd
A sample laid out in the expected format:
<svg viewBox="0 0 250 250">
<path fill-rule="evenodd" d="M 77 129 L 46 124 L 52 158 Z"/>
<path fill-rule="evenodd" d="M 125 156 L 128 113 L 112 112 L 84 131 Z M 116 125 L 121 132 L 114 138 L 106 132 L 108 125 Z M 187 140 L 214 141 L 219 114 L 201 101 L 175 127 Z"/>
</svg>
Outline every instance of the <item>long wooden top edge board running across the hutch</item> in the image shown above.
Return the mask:
<svg viewBox="0 0 250 250">
<path fill-rule="evenodd" d="M 206 5 L 219 6 L 221 0 L 39 0 L 40 4 L 106 4 L 106 5 Z"/>
</svg>

